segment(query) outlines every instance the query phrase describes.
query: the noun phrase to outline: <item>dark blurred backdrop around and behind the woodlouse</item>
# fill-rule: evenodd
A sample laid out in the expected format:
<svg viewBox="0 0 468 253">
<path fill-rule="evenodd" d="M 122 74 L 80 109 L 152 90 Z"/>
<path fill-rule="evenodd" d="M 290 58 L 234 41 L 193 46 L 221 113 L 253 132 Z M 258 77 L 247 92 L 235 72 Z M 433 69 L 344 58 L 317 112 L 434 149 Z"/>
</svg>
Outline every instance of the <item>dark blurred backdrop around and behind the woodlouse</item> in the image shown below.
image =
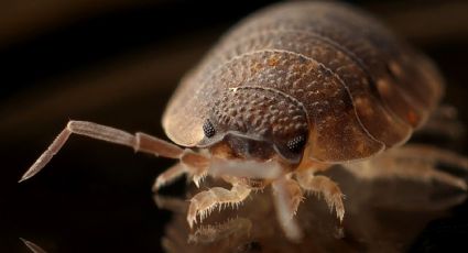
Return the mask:
<svg viewBox="0 0 468 253">
<path fill-rule="evenodd" d="M 0 252 L 161 252 L 171 212 L 151 186 L 172 161 L 73 136 L 35 178 L 21 174 L 68 119 L 164 138 L 179 78 L 232 24 L 273 1 L 3 0 L 0 2 Z M 468 1 L 350 1 L 427 53 L 446 103 L 468 123 Z M 466 138 L 442 147 L 468 154 Z M 182 194 L 183 183 L 165 189 Z M 468 204 L 422 226 L 401 248 L 465 248 Z"/>
</svg>

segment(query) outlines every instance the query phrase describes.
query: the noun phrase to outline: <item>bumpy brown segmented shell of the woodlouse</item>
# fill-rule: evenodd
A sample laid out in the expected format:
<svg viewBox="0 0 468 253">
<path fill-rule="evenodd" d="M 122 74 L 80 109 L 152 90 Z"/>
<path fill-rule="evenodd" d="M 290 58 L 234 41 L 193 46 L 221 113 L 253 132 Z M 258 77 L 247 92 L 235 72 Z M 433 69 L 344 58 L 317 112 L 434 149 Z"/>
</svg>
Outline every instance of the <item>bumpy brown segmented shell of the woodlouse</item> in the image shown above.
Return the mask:
<svg viewBox="0 0 468 253">
<path fill-rule="evenodd" d="M 183 79 L 163 125 L 184 146 L 244 136 L 289 160 L 306 145 L 339 163 L 404 143 L 442 94 L 432 63 L 371 16 L 291 2 L 229 32 Z"/>
</svg>

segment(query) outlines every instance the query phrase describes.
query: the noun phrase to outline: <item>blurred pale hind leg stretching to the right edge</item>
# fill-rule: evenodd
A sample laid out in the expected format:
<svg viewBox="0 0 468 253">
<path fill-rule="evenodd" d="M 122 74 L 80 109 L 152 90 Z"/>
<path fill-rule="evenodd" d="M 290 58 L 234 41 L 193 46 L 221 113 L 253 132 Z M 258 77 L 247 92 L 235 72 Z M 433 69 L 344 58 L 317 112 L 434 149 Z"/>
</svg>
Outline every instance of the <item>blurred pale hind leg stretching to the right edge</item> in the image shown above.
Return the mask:
<svg viewBox="0 0 468 253">
<path fill-rule="evenodd" d="M 462 178 L 437 169 L 439 164 L 468 173 L 468 158 L 437 147 L 415 144 L 392 148 L 372 160 L 344 166 L 366 179 L 401 177 L 420 182 L 438 180 L 467 190 L 467 183 Z"/>
</svg>

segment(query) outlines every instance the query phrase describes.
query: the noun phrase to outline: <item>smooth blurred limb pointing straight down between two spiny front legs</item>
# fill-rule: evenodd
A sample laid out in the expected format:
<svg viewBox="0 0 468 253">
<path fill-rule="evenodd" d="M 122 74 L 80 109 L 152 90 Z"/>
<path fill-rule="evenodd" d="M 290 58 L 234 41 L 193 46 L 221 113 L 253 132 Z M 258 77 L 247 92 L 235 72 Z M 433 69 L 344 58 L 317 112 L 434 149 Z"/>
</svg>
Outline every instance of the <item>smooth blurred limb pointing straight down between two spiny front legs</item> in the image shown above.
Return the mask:
<svg viewBox="0 0 468 253">
<path fill-rule="evenodd" d="M 300 241 L 303 233 L 294 220 L 294 215 L 303 199 L 301 187 L 295 180 L 282 177 L 272 183 L 272 188 L 277 220 L 285 235 L 292 241 Z"/>
</svg>

